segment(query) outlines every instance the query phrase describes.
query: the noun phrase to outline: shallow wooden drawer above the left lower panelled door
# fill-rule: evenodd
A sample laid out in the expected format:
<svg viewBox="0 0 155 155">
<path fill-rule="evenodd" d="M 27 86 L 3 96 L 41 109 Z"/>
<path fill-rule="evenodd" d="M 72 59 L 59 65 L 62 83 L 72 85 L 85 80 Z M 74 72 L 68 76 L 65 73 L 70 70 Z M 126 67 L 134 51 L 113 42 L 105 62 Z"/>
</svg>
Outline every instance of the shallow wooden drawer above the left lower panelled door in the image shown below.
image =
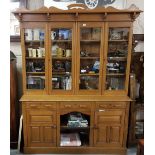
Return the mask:
<svg viewBox="0 0 155 155">
<path fill-rule="evenodd" d="M 29 102 L 26 104 L 26 108 L 29 109 L 56 109 L 56 102 L 50 103 L 39 103 L 39 102 Z"/>
</svg>

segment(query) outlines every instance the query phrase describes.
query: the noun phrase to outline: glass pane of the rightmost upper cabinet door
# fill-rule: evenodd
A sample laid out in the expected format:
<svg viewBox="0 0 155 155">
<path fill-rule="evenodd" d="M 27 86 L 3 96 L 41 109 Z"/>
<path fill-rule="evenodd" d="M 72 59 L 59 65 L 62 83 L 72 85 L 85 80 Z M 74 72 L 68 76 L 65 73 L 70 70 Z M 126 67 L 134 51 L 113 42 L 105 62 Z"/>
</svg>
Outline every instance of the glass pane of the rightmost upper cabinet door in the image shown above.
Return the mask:
<svg viewBox="0 0 155 155">
<path fill-rule="evenodd" d="M 106 89 L 125 89 L 128 56 L 128 28 L 110 28 L 106 65 Z"/>
</svg>

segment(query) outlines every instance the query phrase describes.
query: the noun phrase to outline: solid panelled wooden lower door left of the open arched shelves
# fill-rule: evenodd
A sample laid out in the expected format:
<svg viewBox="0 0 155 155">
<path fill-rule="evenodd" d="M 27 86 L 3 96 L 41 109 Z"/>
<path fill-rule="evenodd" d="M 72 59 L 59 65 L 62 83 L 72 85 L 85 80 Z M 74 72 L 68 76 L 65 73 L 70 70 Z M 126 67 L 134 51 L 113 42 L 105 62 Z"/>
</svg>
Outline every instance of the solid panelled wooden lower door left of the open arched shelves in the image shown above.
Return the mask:
<svg viewBox="0 0 155 155">
<path fill-rule="evenodd" d="M 26 110 L 28 147 L 56 146 L 56 112 L 34 108 Z"/>
</svg>

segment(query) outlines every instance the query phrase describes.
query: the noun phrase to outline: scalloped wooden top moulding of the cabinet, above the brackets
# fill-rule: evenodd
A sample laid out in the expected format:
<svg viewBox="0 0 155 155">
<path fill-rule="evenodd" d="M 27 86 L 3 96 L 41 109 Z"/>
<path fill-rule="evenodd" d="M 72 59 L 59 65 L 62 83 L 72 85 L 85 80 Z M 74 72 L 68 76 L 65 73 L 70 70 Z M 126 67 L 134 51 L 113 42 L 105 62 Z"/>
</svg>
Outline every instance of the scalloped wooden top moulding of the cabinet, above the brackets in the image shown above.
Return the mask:
<svg viewBox="0 0 155 155">
<path fill-rule="evenodd" d="M 36 14 L 36 13 L 141 13 L 143 11 L 139 10 L 134 4 L 132 4 L 128 9 L 116 9 L 114 7 L 98 7 L 95 9 L 89 9 L 84 4 L 71 4 L 68 6 L 68 10 L 61 10 L 56 7 L 41 7 L 36 10 L 28 10 L 26 8 L 18 8 L 13 11 L 14 14 Z"/>
</svg>

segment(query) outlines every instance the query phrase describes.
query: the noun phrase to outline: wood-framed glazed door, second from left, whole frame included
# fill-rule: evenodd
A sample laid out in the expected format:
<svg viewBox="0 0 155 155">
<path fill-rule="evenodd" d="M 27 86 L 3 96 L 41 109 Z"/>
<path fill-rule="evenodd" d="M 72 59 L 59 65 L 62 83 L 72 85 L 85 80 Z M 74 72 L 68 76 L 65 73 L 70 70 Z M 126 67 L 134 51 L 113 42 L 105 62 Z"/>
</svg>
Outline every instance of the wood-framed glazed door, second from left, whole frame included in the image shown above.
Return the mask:
<svg viewBox="0 0 155 155">
<path fill-rule="evenodd" d="M 75 23 L 50 23 L 49 34 L 50 93 L 72 94 L 75 87 Z"/>
</svg>

